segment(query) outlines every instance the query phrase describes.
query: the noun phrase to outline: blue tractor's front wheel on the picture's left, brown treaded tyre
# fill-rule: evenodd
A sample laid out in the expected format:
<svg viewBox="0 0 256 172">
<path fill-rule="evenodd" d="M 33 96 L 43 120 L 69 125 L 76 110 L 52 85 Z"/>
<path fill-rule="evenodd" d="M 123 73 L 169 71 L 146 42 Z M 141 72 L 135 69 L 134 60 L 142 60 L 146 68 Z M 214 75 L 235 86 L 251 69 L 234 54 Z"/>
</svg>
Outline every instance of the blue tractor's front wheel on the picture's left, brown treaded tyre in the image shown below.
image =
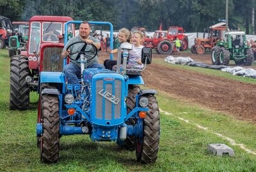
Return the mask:
<svg viewBox="0 0 256 172">
<path fill-rule="evenodd" d="M 43 136 L 40 140 L 41 162 L 54 163 L 59 159 L 60 117 L 59 99 L 56 95 L 45 94 L 41 98 Z"/>
</svg>

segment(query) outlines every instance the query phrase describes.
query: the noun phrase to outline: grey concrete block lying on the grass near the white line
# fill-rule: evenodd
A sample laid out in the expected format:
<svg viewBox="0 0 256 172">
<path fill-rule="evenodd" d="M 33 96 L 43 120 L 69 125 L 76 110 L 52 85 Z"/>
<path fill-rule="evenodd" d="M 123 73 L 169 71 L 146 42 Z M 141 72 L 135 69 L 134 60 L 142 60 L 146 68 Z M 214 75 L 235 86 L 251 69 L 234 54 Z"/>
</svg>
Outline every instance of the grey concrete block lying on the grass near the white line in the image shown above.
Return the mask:
<svg viewBox="0 0 256 172">
<path fill-rule="evenodd" d="M 208 145 L 208 150 L 211 151 L 214 155 L 222 156 L 223 154 L 228 154 L 231 157 L 235 155 L 234 150 L 228 147 L 225 144 L 214 143 Z"/>
</svg>

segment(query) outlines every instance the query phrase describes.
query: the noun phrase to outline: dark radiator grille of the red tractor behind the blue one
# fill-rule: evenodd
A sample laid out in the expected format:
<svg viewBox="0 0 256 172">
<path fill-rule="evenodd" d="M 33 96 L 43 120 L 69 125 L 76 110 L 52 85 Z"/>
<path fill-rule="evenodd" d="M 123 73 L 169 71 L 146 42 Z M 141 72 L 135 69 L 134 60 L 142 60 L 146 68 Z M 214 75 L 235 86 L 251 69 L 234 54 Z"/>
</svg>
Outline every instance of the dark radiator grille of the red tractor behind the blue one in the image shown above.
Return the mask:
<svg viewBox="0 0 256 172">
<path fill-rule="evenodd" d="M 62 71 L 63 58 L 61 52 L 63 48 L 47 47 L 44 49 L 43 71 Z"/>
</svg>

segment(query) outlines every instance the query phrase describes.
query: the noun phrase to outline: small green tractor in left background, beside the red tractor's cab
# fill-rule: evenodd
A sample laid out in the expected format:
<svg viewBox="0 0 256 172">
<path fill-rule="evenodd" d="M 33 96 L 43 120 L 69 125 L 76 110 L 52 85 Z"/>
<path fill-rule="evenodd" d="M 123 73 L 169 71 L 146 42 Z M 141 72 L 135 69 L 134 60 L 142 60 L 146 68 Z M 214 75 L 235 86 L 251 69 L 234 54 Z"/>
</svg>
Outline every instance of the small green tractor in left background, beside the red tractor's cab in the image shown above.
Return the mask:
<svg viewBox="0 0 256 172">
<path fill-rule="evenodd" d="M 15 35 L 9 38 L 9 56 L 20 54 L 20 51 L 27 50 L 28 43 L 28 25 L 22 27 L 22 32 L 15 32 Z M 15 30 L 16 31 L 16 30 Z"/>
</svg>

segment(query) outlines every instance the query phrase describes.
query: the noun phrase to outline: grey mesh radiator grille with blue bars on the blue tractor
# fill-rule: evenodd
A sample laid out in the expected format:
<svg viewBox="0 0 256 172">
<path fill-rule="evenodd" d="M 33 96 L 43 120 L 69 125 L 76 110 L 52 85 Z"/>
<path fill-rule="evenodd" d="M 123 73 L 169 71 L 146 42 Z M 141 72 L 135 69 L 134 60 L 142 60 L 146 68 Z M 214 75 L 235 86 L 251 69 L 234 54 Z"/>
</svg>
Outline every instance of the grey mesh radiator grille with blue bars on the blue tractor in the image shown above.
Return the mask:
<svg viewBox="0 0 256 172">
<path fill-rule="evenodd" d="M 121 118 L 122 81 L 115 80 L 111 83 L 104 83 L 103 80 L 97 80 L 96 85 L 96 118 L 104 118 L 105 120 Z M 104 90 L 103 92 L 109 92 L 111 95 L 115 95 L 116 98 L 120 99 L 118 104 L 114 104 L 101 96 L 99 92 L 102 89 Z"/>
</svg>

